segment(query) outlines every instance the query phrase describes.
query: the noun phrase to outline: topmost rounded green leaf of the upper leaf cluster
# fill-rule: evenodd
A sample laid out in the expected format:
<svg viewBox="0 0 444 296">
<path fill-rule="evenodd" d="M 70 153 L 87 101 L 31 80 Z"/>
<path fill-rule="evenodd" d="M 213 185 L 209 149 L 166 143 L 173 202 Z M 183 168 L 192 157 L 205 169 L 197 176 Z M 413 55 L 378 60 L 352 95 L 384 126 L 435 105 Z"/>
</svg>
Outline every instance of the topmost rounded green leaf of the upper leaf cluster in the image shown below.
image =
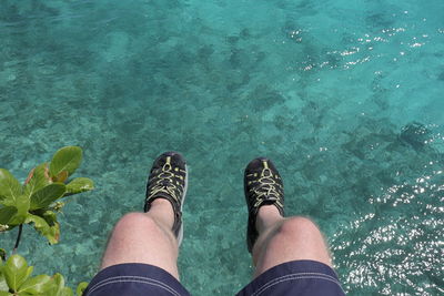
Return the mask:
<svg viewBox="0 0 444 296">
<path fill-rule="evenodd" d="M 80 166 L 82 161 L 82 149 L 79 146 L 67 146 L 60 149 L 52 156 L 49 171 L 52 177 L 57 177 L 61 172 L 67 171 L 72 175 Z"/>
</svg>

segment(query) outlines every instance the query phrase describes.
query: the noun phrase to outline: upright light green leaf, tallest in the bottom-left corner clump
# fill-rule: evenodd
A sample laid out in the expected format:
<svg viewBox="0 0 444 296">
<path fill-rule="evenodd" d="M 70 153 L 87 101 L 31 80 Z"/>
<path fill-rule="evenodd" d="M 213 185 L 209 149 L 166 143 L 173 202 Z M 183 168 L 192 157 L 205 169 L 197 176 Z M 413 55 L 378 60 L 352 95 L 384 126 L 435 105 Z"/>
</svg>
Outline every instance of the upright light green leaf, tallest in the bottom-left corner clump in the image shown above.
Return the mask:
<svg viewBox="0 0 444 296">
<path fill-rule="evenodd" d="M 18 290 L 21 284 L 32 273 L 32 266 L 28 267 L 27 261 L 20 255 L 12 255 L 3 265 L 3 275 L 9 288 Z"/>
</svg>

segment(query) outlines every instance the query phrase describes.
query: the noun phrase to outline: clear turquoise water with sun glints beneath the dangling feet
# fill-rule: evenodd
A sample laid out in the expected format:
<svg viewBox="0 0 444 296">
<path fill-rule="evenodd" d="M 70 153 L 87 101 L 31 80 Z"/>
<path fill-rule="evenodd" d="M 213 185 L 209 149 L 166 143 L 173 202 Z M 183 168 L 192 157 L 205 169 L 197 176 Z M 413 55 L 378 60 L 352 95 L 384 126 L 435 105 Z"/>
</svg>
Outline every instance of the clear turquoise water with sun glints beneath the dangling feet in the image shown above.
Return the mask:
<svg viewBox="0 0 444 296">
<path fill-rule="evenodd" d="M 252 274 L 243 169 L 268 155 L 349 295 L 444 293 L 443 16 L 441 0 L 2 0 L 0 167 L 24 180 L 75 144 L 97 183 L 64 207 L 59 245 L 26 228 L 20 253 L 89 280 L 152 160 L 178 150 L 181 279 L 234 294 Z"/>
</svg>

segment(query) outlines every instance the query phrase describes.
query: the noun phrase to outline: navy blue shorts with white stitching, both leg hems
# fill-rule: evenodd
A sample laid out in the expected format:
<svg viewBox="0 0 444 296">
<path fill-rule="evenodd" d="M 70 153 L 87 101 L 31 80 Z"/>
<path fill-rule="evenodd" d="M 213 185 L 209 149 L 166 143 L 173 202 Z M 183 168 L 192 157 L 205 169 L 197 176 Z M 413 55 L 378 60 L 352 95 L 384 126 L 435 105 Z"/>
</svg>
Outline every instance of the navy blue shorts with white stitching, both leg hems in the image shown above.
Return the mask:
<svg viewBox="0 0 444 296">
<path fill-rule="evenodd" d="M 84 296 L 185 296 L 190 293 L 162 268 L 140 263 L 104 268 L 91 280 Z M 337 276 L 315 261 L 280 264 L 254 278 L 236 296 L 340 296 L 345 295 Z"/>
</svg>

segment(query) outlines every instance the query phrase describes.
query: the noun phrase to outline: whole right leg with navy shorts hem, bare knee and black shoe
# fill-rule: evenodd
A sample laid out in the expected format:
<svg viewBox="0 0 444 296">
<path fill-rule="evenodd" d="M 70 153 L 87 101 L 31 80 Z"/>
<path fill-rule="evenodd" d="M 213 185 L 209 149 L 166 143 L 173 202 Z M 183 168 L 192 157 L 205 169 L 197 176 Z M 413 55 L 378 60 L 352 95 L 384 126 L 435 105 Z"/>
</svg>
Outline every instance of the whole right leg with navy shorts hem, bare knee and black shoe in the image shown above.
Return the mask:
<svg viewBox="0 0 444 296">
<path fill-rule="evenodd" d="M 244 190 L 255 278 L 238 295 L 343 296 L 317 226 L 305 217 L 284 217 L 283 183 L 270 160 L 246 166 Z"/>
</svg>

